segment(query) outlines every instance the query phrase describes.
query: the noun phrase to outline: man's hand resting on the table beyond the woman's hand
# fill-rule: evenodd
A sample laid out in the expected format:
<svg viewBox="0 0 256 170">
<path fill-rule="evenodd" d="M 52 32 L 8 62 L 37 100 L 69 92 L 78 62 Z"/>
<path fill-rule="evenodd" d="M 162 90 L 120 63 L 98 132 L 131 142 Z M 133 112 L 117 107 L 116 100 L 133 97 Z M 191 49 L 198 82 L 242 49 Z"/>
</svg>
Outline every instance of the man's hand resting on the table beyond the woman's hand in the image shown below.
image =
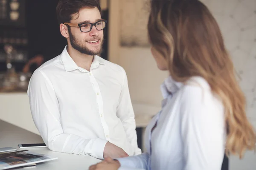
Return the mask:
<svg viewBox="0 0 256 170">
<path fill-rule="evenodd" d="M 121 147 L 118 147 L 110 142 L 107 142 L 103 151 L 103 157 L 123 158 L 129 156 Z"/>
</svg>

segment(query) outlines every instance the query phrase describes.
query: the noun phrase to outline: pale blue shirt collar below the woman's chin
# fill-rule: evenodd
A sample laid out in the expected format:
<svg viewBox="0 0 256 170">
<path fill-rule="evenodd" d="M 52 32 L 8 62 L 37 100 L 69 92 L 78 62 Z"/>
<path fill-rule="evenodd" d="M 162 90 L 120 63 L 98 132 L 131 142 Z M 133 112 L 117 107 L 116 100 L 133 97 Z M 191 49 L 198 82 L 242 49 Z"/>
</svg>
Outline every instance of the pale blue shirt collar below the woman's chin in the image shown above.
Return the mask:
<svg viewBox="0 0 256 170">
<path fill-rule="evenodd" d="M 166 99 L 169 95 L 174 94 L 183 86 L 182 82 L 176 82 L 171 76 L 165 79 L 160 86 L 163 98 Z"/>
</svg>

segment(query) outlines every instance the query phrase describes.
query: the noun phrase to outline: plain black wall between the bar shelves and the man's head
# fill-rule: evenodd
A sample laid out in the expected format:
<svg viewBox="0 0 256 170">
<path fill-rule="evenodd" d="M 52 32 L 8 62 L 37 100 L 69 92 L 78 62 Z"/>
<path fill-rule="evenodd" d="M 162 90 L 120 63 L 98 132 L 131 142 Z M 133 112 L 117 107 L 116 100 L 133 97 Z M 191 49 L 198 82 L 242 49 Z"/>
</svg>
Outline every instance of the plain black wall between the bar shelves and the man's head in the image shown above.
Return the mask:
<svg viewBox="0 0 256 170">
<path fill-rule="evenodd" d="M 42 54 L 45 61 L 61 54 L 67 40 L 56 17 L 58 0 L 28 0 L 26 6 L 29 58 Z"/>
</svg>

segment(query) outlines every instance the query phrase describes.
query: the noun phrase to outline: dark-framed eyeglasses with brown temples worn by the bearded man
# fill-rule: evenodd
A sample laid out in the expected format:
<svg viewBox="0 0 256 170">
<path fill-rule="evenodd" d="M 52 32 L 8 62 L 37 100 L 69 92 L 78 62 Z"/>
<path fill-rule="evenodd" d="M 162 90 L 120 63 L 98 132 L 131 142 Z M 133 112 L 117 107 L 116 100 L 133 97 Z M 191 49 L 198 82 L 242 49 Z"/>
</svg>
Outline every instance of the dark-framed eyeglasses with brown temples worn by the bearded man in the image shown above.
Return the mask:
<svg viewBox="0 0 256 170">
<path fill-rule="evenodd" d="M 68 26 L 75 26 L 79 27 L 81 32 L 90 32 L 95 26 L 95 28 L 100 31 L 106 27 L 107 20 L 100 20 L 97 21 L 96 23 L 81 23 L 81 24 L 73 24 L 73 23 L 64 23 L 67 24 Z"/>
</svg>

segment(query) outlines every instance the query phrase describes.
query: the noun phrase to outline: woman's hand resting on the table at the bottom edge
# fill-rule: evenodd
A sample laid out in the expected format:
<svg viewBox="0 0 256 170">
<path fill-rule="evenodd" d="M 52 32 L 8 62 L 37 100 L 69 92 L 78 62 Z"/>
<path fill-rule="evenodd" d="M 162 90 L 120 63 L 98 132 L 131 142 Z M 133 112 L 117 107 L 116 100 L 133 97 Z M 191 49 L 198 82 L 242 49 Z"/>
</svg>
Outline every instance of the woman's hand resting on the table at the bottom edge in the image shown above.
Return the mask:
<svg viewBox="0 0 256 170">
<path fill-rule="evenodd" d="M 90 166 L 89 170 L 118 170 L 120 166 L 119 161 L 108 157 L 104 161 Z"/>
</svg>

